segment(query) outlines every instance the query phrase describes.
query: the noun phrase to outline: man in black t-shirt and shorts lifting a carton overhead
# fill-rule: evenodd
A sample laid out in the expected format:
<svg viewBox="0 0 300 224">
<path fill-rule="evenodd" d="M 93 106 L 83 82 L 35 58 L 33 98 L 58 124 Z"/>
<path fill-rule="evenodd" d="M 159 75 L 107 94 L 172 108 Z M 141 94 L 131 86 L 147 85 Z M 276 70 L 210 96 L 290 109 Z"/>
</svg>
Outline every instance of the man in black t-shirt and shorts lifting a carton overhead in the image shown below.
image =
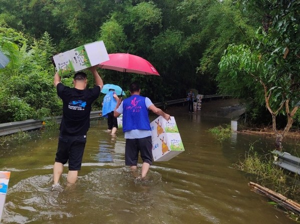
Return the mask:
<svg viewBox="0 0 300 224">
<path fill-rule="evenodd" d="M 81 169 L 82 157 L 86 144 L 87 132 L 90 127 L 90 113 L 92 103 L 99 97 L 103 81 L 96 67 L 90 68 L 94 75 L 96 86 L 86 89 L 87 75 L 78 72 L 74 76 L 74 88 L 61 83 L 58 73 L 54 76 L 54 85 L 58 96 L 63 100 L 63 118 L 60 125 L 58 149 L 53 166 L 54 185 L 64 170 L 64 164 L 69 161 L 68 183 L 75 183 L 78 170 Z"/>
</svg>

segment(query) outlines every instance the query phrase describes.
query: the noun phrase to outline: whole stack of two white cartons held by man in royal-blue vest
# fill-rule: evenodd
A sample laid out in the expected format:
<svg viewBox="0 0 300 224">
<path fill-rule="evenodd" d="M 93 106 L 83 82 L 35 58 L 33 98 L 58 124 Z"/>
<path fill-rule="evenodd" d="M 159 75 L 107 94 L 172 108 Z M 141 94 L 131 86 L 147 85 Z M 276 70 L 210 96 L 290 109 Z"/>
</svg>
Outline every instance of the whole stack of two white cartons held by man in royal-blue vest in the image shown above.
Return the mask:
<svg viewBox="0 0 300 224">
<path fill-rule="evenodd" d="M 166 121 L 159 116 L 150 123 L 154 161 L 168 161 L 184 151 L 174 117 Z"/>
</svg>

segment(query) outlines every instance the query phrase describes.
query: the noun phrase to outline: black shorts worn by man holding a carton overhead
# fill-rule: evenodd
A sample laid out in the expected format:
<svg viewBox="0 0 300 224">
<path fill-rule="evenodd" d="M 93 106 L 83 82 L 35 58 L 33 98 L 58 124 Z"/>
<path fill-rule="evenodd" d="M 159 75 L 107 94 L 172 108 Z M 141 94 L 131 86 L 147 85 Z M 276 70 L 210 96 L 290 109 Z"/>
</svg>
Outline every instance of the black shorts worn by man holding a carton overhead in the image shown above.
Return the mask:
<svg viewBox="0 0 300 224">
<path fill-rule="evenodd" d="M 86 135 L 60 135 L 55 161 L 66 164 L 69 160 L 69 170 L 80 170 L 86 142 Z"/>
</svg>

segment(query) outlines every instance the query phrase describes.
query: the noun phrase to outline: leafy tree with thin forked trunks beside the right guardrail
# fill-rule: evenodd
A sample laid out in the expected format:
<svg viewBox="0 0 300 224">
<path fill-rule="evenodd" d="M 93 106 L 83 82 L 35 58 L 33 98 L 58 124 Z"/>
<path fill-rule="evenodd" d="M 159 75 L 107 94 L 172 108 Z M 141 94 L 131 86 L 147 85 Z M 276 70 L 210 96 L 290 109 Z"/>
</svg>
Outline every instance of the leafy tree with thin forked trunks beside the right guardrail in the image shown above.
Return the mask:
<svg viewBox="0 0 300 224">
<path fill-rule="evenodd" d="M 282 149 L 282 139 L 293 124 L 300 106 L 300 15 L 298 1 L 241 1 L 243 6 L 264 9 L 263 26 L 251 45 L 230 45 L 219 64 L 220 87 L 235 90 L 233 83 L 245 88 L 255 88 L 272 116 L 272 128 L 276 135 L 275 147 Z M 226 88 L 225 85 L 229 88 Z M 260 90 L 257 87 L 260 84 Z M 239 88 L 242 88 L 241 86 Z M 276 116 L 286 116 L 283 131 L 277 130 Z"/>
</svg>

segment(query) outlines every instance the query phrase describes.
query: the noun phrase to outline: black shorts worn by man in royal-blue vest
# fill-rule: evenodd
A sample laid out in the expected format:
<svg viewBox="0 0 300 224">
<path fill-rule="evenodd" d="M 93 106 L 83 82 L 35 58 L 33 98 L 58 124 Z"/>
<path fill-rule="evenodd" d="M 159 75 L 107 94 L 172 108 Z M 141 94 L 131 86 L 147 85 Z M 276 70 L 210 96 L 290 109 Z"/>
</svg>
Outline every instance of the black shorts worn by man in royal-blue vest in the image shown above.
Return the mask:
<svg viewBox="0 0 300 224">
<path fill-rule="evenodd" d="M 138 163 L 139 152 L 143 162 L 152 165 L 152 138 L 126 139 L 125 144 L 125 165 L 136 166 Z"/>
</svg>

